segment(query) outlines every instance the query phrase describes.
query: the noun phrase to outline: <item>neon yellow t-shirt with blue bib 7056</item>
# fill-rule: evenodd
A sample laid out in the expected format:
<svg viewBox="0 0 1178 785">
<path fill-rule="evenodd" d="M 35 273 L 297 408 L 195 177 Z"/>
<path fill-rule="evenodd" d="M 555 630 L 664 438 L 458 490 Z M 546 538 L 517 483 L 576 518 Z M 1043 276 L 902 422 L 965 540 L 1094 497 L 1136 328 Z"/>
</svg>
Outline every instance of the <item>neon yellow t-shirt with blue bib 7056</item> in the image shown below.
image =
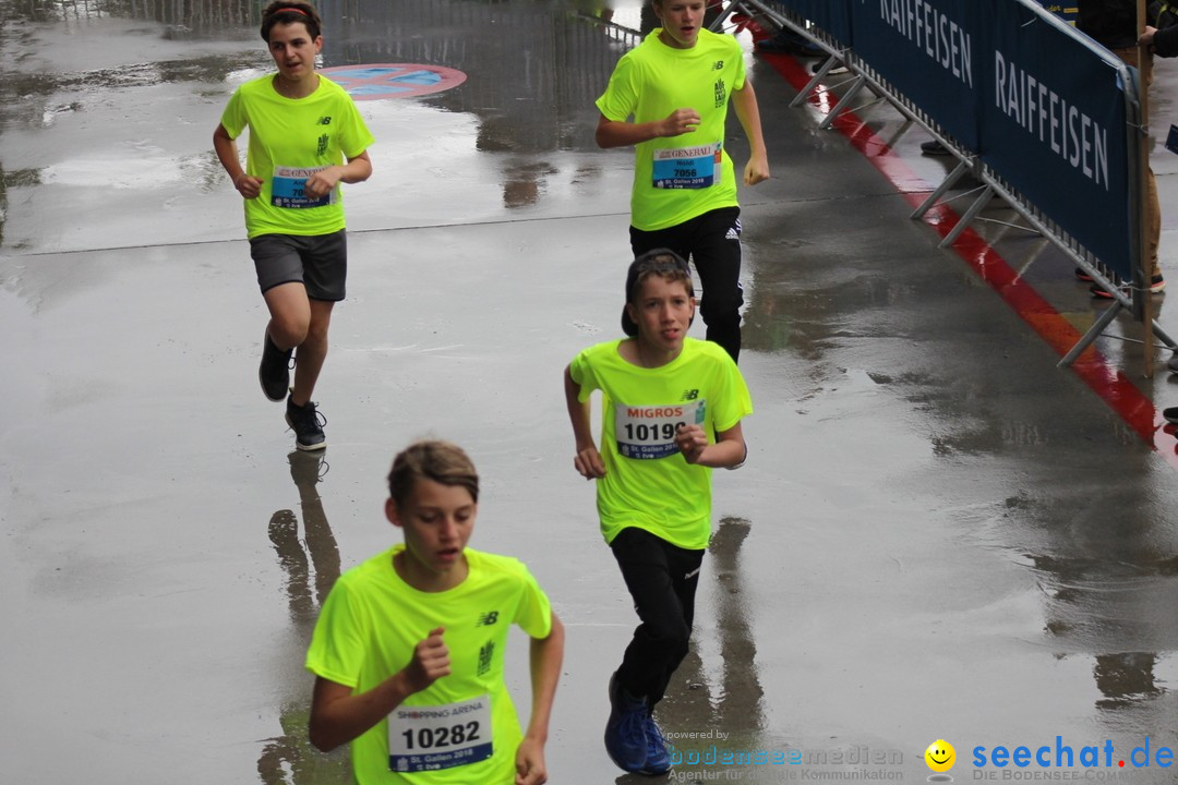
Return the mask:
<svg viewBox="0 0 1178 785">
<path fill-rule="evenodd" d="M 630 224 L 644 232 L 735 207 L 736 175 L 724 149 L 728 99 L 744 87 L 744 55 L 732 35 L 701 29 L 689 49 L 659 40 L 662 28 L 622 55 L 597 108 L 609 120 L 662 120 L 675 109 L 700 113 L 691 133 L 635 146 Z"/>
</svg>

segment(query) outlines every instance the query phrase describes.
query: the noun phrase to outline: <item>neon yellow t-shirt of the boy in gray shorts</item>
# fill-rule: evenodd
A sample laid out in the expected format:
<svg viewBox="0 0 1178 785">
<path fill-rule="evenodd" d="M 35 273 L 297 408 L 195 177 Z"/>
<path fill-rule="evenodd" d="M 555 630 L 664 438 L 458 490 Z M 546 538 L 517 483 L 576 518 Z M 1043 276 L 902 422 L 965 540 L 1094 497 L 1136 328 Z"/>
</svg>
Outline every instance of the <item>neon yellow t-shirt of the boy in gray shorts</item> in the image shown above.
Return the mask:
<svg viewBox="0 0 1178 785">
<path fill-rule="evenodd" d="M 221 114 L 231 139 L 250 127 L 247 174 L 262 178 L 262 193 L 245 201 L 249 237 L 331 234 L 344 228 L 337 185 L 323 199 L 303 195 L 303 182 L 318 169 L 356 158 L 372 144 L 364 119 L 343 87 L 326 76 L 302 99 L 280 95 L 273 74 L 252 79 L 233 93 Z"/>
</svg>

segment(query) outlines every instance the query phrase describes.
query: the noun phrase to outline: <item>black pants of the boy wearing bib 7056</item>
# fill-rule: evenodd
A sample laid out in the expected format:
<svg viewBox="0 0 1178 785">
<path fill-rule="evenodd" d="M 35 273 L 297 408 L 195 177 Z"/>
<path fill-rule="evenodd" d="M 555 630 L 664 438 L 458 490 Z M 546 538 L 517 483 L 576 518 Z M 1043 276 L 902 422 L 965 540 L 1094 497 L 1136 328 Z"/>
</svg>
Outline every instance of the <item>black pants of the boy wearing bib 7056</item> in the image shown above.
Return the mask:
<svg viewBox="0 0 1178 785">
<path fill-rule="evenodd" d="M 670 248 L 689 259 L 703 290 L 700 315 L 709 341 L 720 344 L 735 362 L 740 357 L 740 207 L 721 207 L 654 232 L 630 227 L 635 258 L 655 248 Z"/>
</svg>

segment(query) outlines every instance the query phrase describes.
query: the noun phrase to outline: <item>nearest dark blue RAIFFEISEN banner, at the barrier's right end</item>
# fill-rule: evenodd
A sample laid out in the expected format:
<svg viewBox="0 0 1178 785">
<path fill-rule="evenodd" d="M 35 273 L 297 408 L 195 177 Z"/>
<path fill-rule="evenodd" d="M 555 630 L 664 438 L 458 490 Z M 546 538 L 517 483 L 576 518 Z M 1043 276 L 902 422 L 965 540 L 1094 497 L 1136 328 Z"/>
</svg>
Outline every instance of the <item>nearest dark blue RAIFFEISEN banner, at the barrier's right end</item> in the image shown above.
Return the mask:
<svg viewBox="0 0 1178 785">
<path fill-rule="evenodd" d="M 982 160 L 1130 279 L 1130 139 L 1120 61 L 1035 5 L 979 6 L 992 31 L 992 44 L 979 52 L 987 74 Z"/>
</svg>

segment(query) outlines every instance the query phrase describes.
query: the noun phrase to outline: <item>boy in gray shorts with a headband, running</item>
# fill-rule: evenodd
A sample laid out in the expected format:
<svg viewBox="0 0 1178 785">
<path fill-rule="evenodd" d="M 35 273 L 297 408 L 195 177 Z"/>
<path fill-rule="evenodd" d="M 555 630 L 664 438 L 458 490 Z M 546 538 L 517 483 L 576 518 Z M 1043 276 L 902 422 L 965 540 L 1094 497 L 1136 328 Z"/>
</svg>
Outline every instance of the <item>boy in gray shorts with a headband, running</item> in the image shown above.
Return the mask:
<svg viewBox="0 0 1178 785">
<path fill-rule="evenodd" d="M 344 299 L 348 239 L 340 182 L 372 174 L 372 144 L 355 102 L 315 71 L 322 20 L 306 2 L 277 0 L 262 12 L 262 38 L 278 73 L 241 85 L 213 132 L 213 148 L 245 199 L 245 226 L 258 286 L 270 310 L 258 379 L 286 400 L 294 446 L 327 446 L 325 419 L 311 401 L 327 355 L 332 307 Z M 237 138 L 250 128 L 245 168 Z M 345 160 L 346 159 L 346 162 Z M 291 357 L 298 348 L 294 386 Z"/>
</svg>

